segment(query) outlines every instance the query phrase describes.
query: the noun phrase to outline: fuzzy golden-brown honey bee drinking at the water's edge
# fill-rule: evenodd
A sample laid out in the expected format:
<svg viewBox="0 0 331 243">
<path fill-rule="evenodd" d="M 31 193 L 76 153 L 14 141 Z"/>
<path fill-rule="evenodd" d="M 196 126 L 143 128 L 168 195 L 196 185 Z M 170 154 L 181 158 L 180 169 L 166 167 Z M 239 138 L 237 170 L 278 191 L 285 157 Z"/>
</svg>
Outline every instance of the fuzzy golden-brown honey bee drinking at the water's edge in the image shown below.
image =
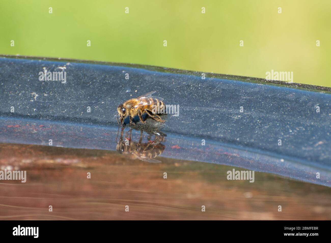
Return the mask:
<svg viewBox="0 0 331 243">
<path fill-rule="evenodd" d="M 136 115 L 139 116 L 139 119 L 142 123 L 146 123 L 146 121 L 144 121 L 142 118 L 142 115 L 145 113 L 147 113 L 148 116 L 152 117 L 156 121 L 165 122 L 165 120 L 162 120 L 161 117 L 153 111 L 155 105 L 159 105 L 160 110 L 162 110 L 163 106 L 165 105 L 163 103 L 163 98 L 152 96 L 154 93 L 156 93 L 156 91 L 139 96 L 138 98 L 130 99 L 125 101 L 123 104 L 118 105 L 118 114 L 116 115 L 116 118 L 119 116 L 121 126 L 127 116 L 129 116 L 131 125 L 135 125 L 132 119 Z"/>
</svg>

